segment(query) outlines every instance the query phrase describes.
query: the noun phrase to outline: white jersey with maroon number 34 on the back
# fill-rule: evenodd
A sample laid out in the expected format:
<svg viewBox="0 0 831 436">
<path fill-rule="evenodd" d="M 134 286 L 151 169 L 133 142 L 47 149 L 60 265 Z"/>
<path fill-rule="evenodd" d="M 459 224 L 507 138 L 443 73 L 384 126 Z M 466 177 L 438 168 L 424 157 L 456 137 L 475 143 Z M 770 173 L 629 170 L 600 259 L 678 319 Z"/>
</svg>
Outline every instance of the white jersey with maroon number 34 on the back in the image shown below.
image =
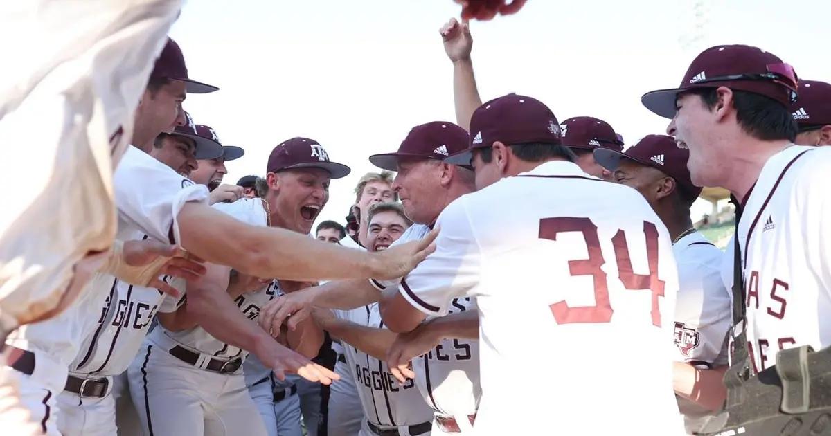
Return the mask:
<svg viewBox="0 0 831 436">
<path fill-rule="evenodd" d="M 551 416 L 562 434 L 681 434 L 675 258 L 637 191 L 551 161 L 458 198 L 437 225 L 400 291 L 431 316 L 476 298 L 477 433 L 538 434 Z M 518 369 L 529 380 L 506 380 Z"/>
</svg>

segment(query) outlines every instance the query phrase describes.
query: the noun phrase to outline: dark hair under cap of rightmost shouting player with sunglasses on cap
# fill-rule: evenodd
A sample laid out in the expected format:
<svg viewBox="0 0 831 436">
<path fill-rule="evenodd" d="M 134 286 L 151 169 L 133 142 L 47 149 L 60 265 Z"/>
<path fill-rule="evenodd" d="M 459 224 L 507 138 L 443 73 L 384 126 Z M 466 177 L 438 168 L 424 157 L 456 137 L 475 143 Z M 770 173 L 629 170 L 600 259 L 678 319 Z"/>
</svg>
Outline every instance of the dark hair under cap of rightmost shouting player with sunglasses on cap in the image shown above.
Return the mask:
<svg viewBox="0 0 831 436">
<path fill-rule="evenodd" d="M 701 100 L 712 110 L 719 101 L 716 88 L 701 88 L 689 91 L 701 96 Z M 789 140 L 793 142 L 799 128 L 788 108 L 770 97 L 748 91 L 733 91 L 735 118 L 742 130 L 757 140 Z"/>
</svg>

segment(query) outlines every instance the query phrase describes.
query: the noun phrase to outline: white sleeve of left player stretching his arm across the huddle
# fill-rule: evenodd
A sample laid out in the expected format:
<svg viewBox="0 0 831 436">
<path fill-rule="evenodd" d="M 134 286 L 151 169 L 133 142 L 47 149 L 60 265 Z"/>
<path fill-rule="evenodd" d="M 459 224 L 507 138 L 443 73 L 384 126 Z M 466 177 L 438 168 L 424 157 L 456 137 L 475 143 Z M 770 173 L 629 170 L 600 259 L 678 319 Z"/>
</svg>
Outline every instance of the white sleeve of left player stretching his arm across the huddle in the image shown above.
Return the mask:
<svg viewBox="0 0 831 436">
<path fill-rule="evenodd" d="M 208 203 L 208 189 L 130 146 L 113 176 L 121 218 L 157 241 L 178 243 L 185 203 Z"/>
</svg>

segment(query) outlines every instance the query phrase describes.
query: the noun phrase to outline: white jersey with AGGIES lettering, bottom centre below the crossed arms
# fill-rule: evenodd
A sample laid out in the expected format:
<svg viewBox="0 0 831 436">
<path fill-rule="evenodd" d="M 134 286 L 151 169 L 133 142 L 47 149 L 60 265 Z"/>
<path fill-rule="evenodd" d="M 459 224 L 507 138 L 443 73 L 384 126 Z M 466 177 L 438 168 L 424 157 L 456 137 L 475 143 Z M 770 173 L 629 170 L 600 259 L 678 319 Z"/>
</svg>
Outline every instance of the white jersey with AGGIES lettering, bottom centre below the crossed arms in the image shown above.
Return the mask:
<svg viewBox="0 0 831 436">
<path fill-rule="evenodd" d="M 362 311 L 362 313 L 361 313 Z M 338 311 L 336 315 L 350 316 L 352 321 L 362 326 L 384 328 L 378 304 L 354 311 Z M 430 422 L 433 411 L 427 407 L 413 380 L 404 385 L 398 383 L 390 373 L 386 362 L 357 350 L 352 345 L 343 343 L 347 364 L 355 377 L 355 386 L 361 398 L 364 414 L 372 424 L 382 427 L 401 427 Z"/>
</svg>

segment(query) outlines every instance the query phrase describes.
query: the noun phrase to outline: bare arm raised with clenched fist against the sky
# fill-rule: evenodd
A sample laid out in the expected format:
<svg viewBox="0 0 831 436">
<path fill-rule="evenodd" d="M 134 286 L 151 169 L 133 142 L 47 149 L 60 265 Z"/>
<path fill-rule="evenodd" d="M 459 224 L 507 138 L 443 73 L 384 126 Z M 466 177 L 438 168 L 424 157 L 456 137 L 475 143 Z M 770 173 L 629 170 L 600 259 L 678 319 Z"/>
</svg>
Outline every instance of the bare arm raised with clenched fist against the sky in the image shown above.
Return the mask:
<svg viewBox="0 0 831 436">
<path fill-rule="evenodd" d="M 470 117 L 474 110 L 482 105 L 476 78 L 473 74 L 473 62 L 470 50 L 473 38 L 470 37 L 468 22 L 458 22 L 451 18 L 439 30 L 445 42 L 445 53 L 453 62 L 453 101 L 456 109 L 456 124 L 470 130 Z"/>
</svg>

